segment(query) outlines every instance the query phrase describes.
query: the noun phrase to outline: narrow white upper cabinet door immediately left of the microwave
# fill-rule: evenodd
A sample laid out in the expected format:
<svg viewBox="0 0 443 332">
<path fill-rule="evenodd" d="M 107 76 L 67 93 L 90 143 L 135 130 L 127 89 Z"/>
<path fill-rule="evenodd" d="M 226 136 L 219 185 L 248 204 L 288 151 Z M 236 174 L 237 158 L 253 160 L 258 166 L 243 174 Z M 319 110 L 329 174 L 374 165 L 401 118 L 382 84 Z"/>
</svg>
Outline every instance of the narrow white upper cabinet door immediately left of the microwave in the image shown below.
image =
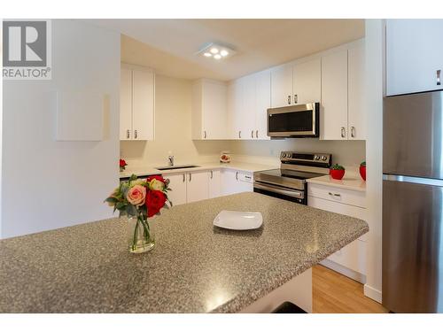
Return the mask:
<svg viewBox="0 0 443 332">
<path fill-rule="evenodd" d="M 255 133 L 254 138 L 269 140 L 268 108 L 271 107 L 271 73 L 264 71 L 255 74 Z"/>
</svg>

